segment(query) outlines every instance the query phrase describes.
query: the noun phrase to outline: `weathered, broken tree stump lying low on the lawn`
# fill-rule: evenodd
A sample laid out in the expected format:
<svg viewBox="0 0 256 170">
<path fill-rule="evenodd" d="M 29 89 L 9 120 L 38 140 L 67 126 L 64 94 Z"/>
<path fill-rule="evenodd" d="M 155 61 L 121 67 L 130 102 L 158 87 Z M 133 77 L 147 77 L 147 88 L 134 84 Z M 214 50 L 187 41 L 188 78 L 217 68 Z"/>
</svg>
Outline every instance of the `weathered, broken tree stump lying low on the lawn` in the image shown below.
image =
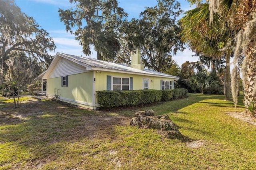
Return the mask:
<svg viewBox="0 0 256 170">
<path fill-rule="evenodd" d="M 168 115 L 154 116 L 154 111 L 138 111 L 130 120 L 131 126 L 139 126 L 144 129 L 158 129 L 159 133 L 170 139 L 182 139 L 183 135 L 178 130 Z"/>
</svg>

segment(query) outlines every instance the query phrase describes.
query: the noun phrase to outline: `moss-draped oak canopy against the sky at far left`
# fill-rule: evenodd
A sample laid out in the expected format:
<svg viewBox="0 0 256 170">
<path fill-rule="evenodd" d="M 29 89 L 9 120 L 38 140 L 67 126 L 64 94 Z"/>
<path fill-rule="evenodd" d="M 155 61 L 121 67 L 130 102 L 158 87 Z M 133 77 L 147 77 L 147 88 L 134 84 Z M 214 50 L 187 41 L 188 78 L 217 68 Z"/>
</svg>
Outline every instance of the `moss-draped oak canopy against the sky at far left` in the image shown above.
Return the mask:
<svg viewBox="0 0 256 170">
<path fill-rule="evenodd" d="M 12 51 L 22 51 L 48 67 L 52 59 L 48 50 L 55 48 L 49 33 L 21 12 L 14 0 L 0 0 L 0 73 L 7 68 Z"/>
</svg>

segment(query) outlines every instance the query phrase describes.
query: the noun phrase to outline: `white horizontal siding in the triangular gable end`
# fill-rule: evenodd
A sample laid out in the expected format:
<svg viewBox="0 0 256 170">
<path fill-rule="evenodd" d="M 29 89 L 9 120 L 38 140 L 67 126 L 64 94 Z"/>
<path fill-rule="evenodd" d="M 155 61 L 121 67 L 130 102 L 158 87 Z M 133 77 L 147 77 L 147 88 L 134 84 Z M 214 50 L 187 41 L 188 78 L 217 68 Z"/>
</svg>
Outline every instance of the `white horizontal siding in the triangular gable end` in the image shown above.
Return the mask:
<svg viewBox="0 0 256 170">
<path fill-rule="evenodd" d="M 79 64 L 76 64 L 61 57 L 49 74 L 48 78 L 56 78 L 60 76 L 79 74 L 83 72 L 86 72 L 86 68 L 84 66 L 80 66 Z"/>
</svg>

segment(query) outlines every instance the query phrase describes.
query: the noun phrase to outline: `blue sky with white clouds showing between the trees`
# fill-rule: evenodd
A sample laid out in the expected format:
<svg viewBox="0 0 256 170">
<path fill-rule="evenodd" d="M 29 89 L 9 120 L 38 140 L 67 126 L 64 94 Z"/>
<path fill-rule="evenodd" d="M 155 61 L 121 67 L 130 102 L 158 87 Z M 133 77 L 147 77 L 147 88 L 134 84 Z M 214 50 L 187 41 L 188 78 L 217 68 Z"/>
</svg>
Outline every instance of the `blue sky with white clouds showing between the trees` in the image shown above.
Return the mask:
<svg viewBox="0 0 256 170">
<path fill-rule="evenodd" d="M 156 0 L 118 0 L 118 2 L 119 6 L 129 14 L 128 20 L 139 18 L 139 14 L 145 6 L 151 7 L 157 4 Z M 191 9 L 187 1 L 179 0 L 179 2 L 183 11 Z M 33 17 L 43 29 L 50 33 L 50 37 L 53 37 L 57 48 L 55 51 L 49 52 L 51 55 L 60 52 L 88 57 L 82 53 L 82 46 L 74 39 L 74 35 L 66 33 L 64 23 L 60 21 L 58 8 L 63 10 L 70 8 L 71 4 L 68 0 L 15 0 L 15 3 L 22 12 Z M 183 52 L 178 52 L 173 59 L 181 65 L 186 61 L 196 61 L 197 58 L 192 55 L 193 53 L 186 48 Z M 95 51 L 92 51 L 91 58 L 96 58 Z"/>
</svg>

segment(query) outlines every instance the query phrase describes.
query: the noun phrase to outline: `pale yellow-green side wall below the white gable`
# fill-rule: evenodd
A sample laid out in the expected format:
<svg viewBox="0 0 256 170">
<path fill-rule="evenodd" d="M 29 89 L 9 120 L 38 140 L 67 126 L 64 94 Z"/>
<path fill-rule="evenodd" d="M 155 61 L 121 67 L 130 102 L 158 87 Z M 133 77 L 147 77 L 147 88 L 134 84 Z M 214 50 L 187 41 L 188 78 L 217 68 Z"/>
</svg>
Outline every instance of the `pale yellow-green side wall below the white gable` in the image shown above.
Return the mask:
<svg viewBox="0 0 256 170">
<path fill-rule="evenodd" d="M 65 75 L 63 75 L 65 76 Z M 47 80 L 47 94 L 55 94 L 60 89 L 60 100 L 78 106 L 93 109 L 93 72 L 85 72 L 68 76 L 68 86 L 62 87 L 61 76 Z"/>
</svg>

